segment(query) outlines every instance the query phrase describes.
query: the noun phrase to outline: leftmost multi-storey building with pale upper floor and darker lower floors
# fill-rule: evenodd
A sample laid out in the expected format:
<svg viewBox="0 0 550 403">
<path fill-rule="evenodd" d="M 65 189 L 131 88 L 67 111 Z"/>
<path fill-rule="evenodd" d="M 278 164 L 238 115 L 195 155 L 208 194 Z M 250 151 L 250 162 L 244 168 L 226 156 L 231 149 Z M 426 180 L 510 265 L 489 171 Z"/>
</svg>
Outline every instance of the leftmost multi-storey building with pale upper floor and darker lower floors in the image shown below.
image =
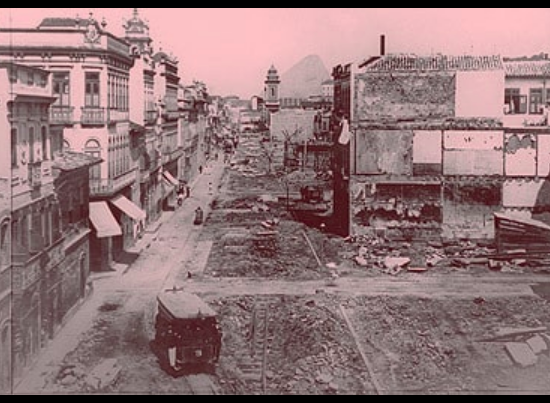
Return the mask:
<svg viewBox="0 0 550 403">
<path fill-rule="evenodd" d="M 42 278 L 61 264 L 63 237 L 52 173 L 49 73 L 15 64 L 5 64 L 2 73 L 1 93 L 11 94 L 2 102 L 11 141 L 1 159 L 11 162 L 12 375 L 18 379 L 48 340 Z"/>
</svg>

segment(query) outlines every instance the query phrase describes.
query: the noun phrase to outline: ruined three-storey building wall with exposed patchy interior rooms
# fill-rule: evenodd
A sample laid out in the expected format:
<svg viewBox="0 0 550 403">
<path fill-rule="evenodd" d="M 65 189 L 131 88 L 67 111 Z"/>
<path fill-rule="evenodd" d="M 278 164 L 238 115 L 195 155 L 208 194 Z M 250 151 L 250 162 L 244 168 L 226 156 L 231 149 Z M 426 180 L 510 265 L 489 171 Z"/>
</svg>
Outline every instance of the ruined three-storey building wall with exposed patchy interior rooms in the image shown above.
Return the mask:
<svg viewBox="0 0 550 403">
<path fill-rule="evenodd" d="M 520 204 L 508 182 L 540 178 L 541 134 L 503 124 L 500 57 L 390 55 L 352 81 L 353 234 L 492 238 L 494 213 Z"/>
</svg>

